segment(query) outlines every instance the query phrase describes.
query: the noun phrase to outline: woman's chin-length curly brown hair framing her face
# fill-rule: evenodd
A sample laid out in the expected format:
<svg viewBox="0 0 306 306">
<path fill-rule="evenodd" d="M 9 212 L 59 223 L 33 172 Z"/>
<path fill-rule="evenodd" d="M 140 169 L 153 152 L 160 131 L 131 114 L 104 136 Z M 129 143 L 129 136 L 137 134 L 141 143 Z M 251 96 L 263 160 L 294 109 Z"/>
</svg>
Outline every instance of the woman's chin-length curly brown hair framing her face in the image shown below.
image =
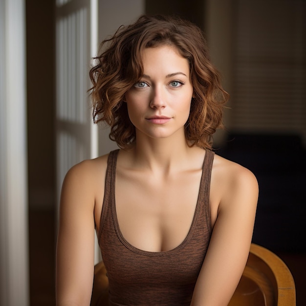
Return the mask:
<svg viewBox="0 0 306 306">
<path fill-rule="evenodd" d="M 101 43 L 100 55 L 94 58 L 95 65 L 89 72 L 93 120 L 110 126 L 109 138 L 119 147 L 131 147 L 136 140 L 135 127 L 124 96 L 143 74 L 142 51 L 164 44 L 175 46 L 190 66 L 194 98 L 185 124 L 187 143 L 211 149 L 212 134 L 223 127 L 222 111 L 229 95 L 210 61 L 202 31 L 174 16 L 142 15 Z"/>
</svg>

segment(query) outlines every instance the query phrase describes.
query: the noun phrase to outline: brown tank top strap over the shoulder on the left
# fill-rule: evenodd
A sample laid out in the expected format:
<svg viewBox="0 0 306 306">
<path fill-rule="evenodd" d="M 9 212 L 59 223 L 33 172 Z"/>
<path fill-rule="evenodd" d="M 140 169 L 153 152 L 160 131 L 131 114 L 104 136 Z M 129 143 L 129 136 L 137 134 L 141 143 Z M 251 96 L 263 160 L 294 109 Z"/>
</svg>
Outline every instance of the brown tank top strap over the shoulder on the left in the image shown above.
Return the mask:
<svg viewBox="0 0 306 306">
<path fill-rule="evenodd" d="M 103 199 L 103 206 L 101 212 L 98 241 L 100 240 L 104 220 L 109 210 L 111 210 L 112 197 L 115 192 L 115 177 L 116 177 L 116 164 L 117 164 L 118 153 L 119 149 L 109 152 L 108 165 L 105 175 L 104 199 Z"/>
</svg>

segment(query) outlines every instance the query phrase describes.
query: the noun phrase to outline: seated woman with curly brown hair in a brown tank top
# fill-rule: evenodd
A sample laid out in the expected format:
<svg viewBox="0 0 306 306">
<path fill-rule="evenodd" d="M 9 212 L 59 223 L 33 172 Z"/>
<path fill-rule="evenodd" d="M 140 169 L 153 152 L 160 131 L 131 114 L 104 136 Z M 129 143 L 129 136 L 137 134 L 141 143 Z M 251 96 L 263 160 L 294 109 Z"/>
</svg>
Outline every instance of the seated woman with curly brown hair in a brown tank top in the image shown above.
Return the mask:
<svg viewBox="0 0 306 306">
<path fill-rule="evenodd" d="M 225 306 L 248 257 L 258 185 L 211 151 L 228 94 L 202 33 L 141 16 L 101 50 L 93 117 L 121 149 L 66 175 L 57 305 L 89 305 L 95 229 L 109 305 Z"/>
</svg>

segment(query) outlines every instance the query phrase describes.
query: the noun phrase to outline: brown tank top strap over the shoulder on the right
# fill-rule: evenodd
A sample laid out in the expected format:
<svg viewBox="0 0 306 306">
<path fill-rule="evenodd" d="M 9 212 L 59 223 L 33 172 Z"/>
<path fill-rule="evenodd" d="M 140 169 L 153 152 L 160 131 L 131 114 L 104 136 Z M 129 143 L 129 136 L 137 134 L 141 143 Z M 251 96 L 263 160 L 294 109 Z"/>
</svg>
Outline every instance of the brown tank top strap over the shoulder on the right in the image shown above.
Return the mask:
<svg viewBox="0 0 306 306">
<path fill-rule="evenodd" d="M 204 161 L 203 161 L 203 170 L 202 177 L 199 188 L 199 203 L 204 205 L 204 213 L 206 216 L 207 228 L 209 232 L 212 232 L 211 218 L 210 218 L 210 203 L 209 203 L 209 193 L 210 193 L 210 181 L 213 168 L 215 152 L 206 149 Z"/>
</svg>

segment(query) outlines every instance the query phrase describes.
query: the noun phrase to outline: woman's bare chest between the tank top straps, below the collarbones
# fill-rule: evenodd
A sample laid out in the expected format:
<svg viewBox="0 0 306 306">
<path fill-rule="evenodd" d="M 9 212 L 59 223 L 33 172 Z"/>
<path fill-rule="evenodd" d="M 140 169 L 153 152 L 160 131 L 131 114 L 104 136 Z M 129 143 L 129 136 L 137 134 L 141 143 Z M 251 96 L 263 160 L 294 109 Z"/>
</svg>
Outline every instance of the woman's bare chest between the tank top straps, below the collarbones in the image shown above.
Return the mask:
<svg viewBox="0 0 306 306">
<path fill-rule="evenodd" d="M 114 205 L 123 237 L 146 251 L 174 249 L 194 220 L 201 175 L 198 170 L 162 179 L 118 171 Z"/>
</svg>

